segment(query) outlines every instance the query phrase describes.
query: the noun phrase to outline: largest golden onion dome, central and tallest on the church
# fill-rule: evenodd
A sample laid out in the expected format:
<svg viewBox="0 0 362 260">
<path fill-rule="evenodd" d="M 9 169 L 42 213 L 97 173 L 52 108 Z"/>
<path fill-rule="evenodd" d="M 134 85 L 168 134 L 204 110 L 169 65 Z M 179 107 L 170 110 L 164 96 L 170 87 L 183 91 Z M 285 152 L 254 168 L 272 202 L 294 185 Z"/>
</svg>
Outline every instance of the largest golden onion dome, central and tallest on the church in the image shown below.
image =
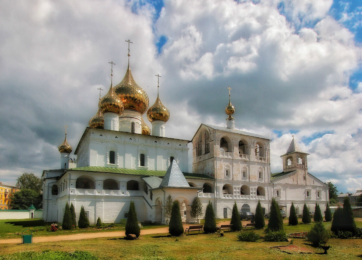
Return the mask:
<svg viewBox="0 0 362 260">
<path fill-rule="evenodd" d="M 125 77 L 114 87 L 114 91 L 122 100 L 125 109 L 135 110 L 141 114 L 147 111 L 150 101 L 147 93 L 133 79 L 130 62 Z"/>
</svg>

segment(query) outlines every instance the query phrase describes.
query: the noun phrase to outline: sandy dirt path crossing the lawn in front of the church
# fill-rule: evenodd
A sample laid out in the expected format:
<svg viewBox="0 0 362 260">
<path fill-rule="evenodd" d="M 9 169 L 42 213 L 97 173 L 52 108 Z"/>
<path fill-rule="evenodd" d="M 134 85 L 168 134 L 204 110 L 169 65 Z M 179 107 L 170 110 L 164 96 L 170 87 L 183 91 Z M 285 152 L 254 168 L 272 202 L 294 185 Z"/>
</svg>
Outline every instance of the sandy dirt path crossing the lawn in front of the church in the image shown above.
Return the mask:
<svg viewBox="0 0 362 260">
<path fill-rule="evenodd" d="M 230 224 L 230 221 L 219 222 L 217 225 L 219 226 L 224 224 L 226 225 Z M 184 224 L 183 226 L 185 229 L 186 227 L 189 227 L 190 224 Z M 162 228 L 141 230 L 140 235 L 159 234 L 159 233 L 168 233 L 168 226 Z M 33 243 L 92 239 L 92 238 L 113 238 L 113 237 L 124 237 L 125 235 L 126 235 L 125 231 L 112 231 L 112 232 L 99 232 L 99 233 L 81 233 L 81 234 L 61 235 L 61 236 L 38 236 L 38 237 L 33 237 Z M 21 238 L 2 239 L 0 240 L 0 244 L 21 244 Z"/>
</svg>

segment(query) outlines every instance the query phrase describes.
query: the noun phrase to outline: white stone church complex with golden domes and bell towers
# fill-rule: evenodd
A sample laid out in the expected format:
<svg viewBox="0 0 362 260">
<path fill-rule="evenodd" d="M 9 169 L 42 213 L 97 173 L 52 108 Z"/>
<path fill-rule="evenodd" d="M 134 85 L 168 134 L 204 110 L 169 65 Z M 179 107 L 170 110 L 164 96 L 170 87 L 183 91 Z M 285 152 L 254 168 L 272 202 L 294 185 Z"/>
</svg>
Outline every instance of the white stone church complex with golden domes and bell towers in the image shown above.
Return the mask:
<svg viewBox="0 0 362 260">
<path fill-rule="evenodd" d="M 328 186 L 308 173 L 307 154 L 294 138 L 281 156 L 283 172 L 271 174 L 271 140 L 235 129 L 230 90 L 225 112 L 227 127 L 202 123 L 192 141 L 168 138 L 169 110 L 159 94 L 149 108 L 147 93 L 128 65 L 123 80 L 115 87 L 111 81 L 108 93 L 100 98 L 98 112 L 74 152 L 77 160 L 70 158 L 66 135 L 59 146 L 61 168 L 43 171 L 43 219 L 62 222 L 68 202 L 75 206 L 77 217 L 84 206 L 90 223 L 98 217 L 102 222 L 119 222 L 127 218 L 134 201 L 138 221 L 165 223 L 169 195 L 180 202 L 186 222 L 194 221 L 190 209 L 197 196 L 204 212 L 211 201 L 217 218 L 230 218 L 235 201 L 240 211 L 255 212 L 260 200 L 268 213 L 272 197 L 287 215 L 292 201 L 300 213 L 304 203 L 314 211 L 316 202 L 323 213 Z M 143 121 L 144 113 L 152 130 Z M 188 172 L 190 142 L 192 173 Z"/>
</svg>

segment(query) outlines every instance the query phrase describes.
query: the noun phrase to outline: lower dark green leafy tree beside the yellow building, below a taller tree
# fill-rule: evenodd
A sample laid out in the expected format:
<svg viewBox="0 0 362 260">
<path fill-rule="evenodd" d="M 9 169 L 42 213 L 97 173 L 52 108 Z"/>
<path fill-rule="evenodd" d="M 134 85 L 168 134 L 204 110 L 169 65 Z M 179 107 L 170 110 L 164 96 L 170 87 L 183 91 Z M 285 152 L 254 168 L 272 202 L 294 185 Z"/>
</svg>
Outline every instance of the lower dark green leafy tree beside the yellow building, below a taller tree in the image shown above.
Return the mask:
<svg viewBox="0 0 362 260">
<path fill-rule="evenodd" d="M 43 197 L 32 189 L 21 189 L 10 198 L 12 209 L 28 209 L 33 204 L 35 209 L 42 209 Z"/>
</svg>

